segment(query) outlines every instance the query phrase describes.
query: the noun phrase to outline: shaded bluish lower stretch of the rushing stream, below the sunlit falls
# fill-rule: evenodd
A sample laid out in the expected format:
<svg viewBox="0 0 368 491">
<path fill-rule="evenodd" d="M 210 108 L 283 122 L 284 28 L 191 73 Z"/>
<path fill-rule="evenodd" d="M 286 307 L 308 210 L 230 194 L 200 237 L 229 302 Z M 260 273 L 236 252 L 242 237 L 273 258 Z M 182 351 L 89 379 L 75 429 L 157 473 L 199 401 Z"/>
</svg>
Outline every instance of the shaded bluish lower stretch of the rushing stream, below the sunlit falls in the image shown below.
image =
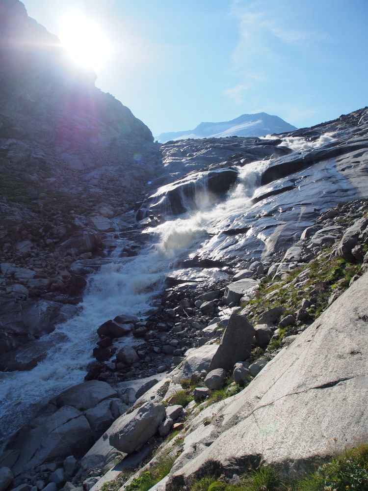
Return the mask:
<svg viewBox="0 0 368 491">
<path fill-rule="evenodd" d="M 26 422 L 40 402 L 83 381 L 98 340 L 97 328 L 119 314 L 144 316 L 161 289 L 160 280 L 170 260 L 153 246 L 139 256 L 106 264 L 90 276 L 81 313 L 42 338 L 50 340 L 47 358 L 32 370 L 0 374 L 0 429 L 4 434 Z M 124 341 L 136 342 L 132 336 Z"/>
</svg>

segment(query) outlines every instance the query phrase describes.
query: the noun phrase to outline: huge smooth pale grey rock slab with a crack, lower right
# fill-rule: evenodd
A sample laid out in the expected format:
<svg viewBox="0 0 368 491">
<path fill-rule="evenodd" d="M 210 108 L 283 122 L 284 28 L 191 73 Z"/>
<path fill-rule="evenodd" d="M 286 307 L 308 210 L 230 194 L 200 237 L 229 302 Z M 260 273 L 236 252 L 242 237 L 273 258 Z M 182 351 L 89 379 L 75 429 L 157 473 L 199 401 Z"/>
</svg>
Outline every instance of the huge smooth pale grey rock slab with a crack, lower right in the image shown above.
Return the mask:
<svg viewBox="0 0 368 491">
<path fill-rule="evenodd" d="M 229 400 L 213 423 L 219 437 L 189 463 L 179 456 L 168 490 L 208 469 L 241 473 L 261 458 L 295 476 L 333 456 L 335 446 L 343 452 L 366 440 L 367 289 L 366 273 Z"/>
</svg>

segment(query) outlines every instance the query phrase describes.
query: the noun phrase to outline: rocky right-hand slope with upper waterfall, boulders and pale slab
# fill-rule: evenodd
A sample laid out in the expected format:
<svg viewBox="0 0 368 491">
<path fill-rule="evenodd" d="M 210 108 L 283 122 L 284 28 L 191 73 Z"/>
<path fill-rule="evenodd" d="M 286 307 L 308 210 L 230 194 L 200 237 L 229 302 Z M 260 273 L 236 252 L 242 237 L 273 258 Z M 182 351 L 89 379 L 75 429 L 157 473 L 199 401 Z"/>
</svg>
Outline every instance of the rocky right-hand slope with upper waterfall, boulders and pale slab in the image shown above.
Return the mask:
<svg viewBox="0 0 368 491">
<path fill-rule="evenodd" d="M 154 310 L 140 318 L 107 321 L 104 311 L 88 382 L 28 406 L 35 417 L 1 457 L 14 486 L 129 486 L 159 459 L 172 469 L 157 489 L 183 489 L 203 472 L 233 478 L 261 458 L 298 474 L 332 455 L 334 438 L 353 446 L 366 434 L 352 401 L 367 391 L 366 275 L 356 281 L 367 271 L 367 109 L 277 140 L 175 145 L 161 147 L 161 186 L 129 229 L 136 247 L 143 238 L 137 255 L 92 275 L 159 263 L 166 290 L 152 292 Z M 158 236 L 163 263 L 144 249 Z M 152 281 L 156 273 L 144 288 Z"/>
</svg>

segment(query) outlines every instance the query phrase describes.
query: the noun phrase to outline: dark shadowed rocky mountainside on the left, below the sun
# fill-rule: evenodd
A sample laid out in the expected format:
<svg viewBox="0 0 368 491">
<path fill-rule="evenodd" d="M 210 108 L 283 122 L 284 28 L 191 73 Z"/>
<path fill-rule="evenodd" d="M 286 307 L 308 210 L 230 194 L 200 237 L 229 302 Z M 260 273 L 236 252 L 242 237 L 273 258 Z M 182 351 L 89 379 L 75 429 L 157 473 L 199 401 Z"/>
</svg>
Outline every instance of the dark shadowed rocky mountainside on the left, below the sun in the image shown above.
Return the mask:
<svg viewBox="0 0 368 491">
<path fill-rule="evenodd" d="M 110 218 L 142 196 L 160 160 L 147 126 L 95 87 L 95 74 L 74 66 L 19 0 L 0 2 L 0 67 L 0 250 L 11 263 L 0 273 L 0 368 L 16 370 L 44 357 L 37 339 L 55 324 L 37 326 L 32 315 L 27 328 L 22 303 L 82 292 L 67 258 L 101 254 L 100 234 L 117 228 Z M 17 277 L 20 266 L 32 276 Z M 52 283 L 56 268 L 64 276 Z M 45 302 L 31 301 L 43 316 Z"/>
</svg>

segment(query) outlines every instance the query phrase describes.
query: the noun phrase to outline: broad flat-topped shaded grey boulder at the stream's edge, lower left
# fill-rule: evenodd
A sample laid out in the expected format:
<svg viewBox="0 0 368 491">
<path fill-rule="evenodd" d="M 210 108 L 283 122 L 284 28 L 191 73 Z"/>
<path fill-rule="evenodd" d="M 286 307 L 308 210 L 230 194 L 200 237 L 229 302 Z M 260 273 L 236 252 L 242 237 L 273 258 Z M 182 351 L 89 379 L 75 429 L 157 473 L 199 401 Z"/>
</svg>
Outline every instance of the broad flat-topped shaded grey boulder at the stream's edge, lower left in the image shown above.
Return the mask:
<svg viewBox="0 0 368 491">
<path fill-rule="evenodd" d="M 117 392 L 106 382 L 90 380 L 64 390 L 56 398 L 57 406 L 73 406 L 79 410 L 90 409 L 105 399 L 117 397 Z"/>
</svg>

